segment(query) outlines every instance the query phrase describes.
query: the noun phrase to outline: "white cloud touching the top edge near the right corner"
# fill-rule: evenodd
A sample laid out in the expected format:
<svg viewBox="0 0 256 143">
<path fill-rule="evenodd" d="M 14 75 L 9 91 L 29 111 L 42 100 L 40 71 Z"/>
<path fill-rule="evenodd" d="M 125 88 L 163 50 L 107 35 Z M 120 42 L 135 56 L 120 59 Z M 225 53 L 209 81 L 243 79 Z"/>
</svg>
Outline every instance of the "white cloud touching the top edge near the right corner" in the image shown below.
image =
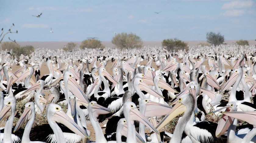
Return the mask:
<svg viewBox="0 0 256 143">
<path fill-rule="evenodd" d="M 253 5 L 251 0 L 249 1 L 232 1 L 222 5 L 222 9 L 238 9 L 238 8 L 248 8 Z"/>
</svg>

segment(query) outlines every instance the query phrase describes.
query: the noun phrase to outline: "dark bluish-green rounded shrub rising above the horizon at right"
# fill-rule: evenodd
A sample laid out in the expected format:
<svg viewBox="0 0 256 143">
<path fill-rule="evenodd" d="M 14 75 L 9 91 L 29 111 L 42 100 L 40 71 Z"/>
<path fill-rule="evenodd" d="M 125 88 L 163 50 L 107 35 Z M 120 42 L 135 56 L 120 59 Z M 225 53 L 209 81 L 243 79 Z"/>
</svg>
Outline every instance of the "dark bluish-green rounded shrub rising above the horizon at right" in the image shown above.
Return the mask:
<svg viewBox="0 0 256 143">
<path fill-rule="evenodd" d="M 207 39 L 207 42 L 216 46 L 224 42 L 224 35 L 221 35 L 220 32 L 218 34 L 214 32 L 208 32 L 206 34 L 206 39 Z"/>
</svg>

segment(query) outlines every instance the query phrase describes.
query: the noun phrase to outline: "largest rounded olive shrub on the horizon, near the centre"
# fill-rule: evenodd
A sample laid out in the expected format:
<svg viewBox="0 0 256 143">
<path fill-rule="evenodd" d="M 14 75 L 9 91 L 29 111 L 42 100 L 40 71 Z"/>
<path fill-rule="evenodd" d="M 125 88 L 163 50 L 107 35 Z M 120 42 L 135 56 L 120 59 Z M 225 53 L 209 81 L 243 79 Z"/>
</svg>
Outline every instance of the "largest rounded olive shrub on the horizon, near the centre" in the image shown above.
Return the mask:
<svg viewBox="0 0 256 143">
<path fill-rule="evenodd" d="M 141 38 L 136 34 L 126 32 L 119 33 L 112 38 L 112 43 L 118 48 L 140 48 L 142 47 L 143 42 Z"/>
</svg>

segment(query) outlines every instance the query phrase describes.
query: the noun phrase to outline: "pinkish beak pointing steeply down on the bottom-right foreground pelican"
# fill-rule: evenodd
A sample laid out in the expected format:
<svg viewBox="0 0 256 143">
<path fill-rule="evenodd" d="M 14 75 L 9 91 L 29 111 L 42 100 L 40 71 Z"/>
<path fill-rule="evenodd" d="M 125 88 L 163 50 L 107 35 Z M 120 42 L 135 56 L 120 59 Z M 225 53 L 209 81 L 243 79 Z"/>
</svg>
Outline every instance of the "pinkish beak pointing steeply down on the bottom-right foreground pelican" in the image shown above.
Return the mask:
<svg viewBox="0 0 256 143">
<path fill-rule="evenodd" d="M 233 123 L 234 118 L 229 117 L 228 115 L 223 114 L 219 120 L 218 126 L 215 131 L 216 137 L 220 137 L 223 135 L 229 128 L 229 126 Z"/>
</svg>

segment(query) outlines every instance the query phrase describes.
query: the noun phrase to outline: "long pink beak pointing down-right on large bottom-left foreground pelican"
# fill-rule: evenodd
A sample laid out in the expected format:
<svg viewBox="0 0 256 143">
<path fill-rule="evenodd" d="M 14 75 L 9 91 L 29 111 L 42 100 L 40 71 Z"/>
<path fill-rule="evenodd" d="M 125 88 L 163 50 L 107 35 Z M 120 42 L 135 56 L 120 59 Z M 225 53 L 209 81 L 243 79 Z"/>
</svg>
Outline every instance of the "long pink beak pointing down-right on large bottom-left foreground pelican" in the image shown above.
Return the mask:
<svg viewBox="0 0 256 143">
<path fill-rule="evenodd" d="M 89 138 L 87 132 L 84 129 L 81 129 L 71 118 L 69 118 L 68 115 L 66 115 L 65 112 L 62 110 L 56 111 L 55 114 L 52 116 L 52 121 L 59 122 L 66 127 L 68 127 L 71 131 L 76 133 L 77 135 L 80 135 L 84 138 Z"/>
</svg>

